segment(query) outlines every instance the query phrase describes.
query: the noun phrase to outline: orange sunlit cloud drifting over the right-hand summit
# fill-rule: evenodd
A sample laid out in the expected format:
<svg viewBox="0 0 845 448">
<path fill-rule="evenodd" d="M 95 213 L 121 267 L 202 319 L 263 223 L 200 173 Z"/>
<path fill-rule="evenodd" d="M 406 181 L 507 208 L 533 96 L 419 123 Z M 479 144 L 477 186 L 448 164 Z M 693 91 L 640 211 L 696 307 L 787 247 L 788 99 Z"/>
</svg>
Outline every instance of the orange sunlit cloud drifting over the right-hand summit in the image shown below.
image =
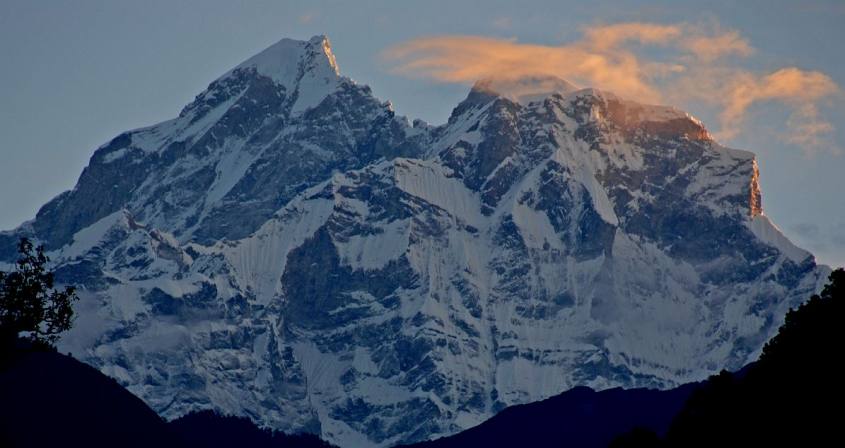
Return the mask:
<svg viewBox="0 0 845 448">
<path fill-rule="evenodd" d="M 839 86 L 817 71 L 758 74 L 730 63 L 753 53 L 747 39 L 718 25 L 629 22 L 584 28 L 581 39 L 562 45 L 447 35 L 400 43 L 383 55 L 394 73 L 442 82 L 552 75 L 642 102 L 706 104 L 716 109 L 714 134 L 722 139 L 742 131 L 752 107 L 777 102 L 789 109 L 785 140 L 808 153 L 828 142 L 834 127 L 820 105 L 838 97 Z"/>
</svg>

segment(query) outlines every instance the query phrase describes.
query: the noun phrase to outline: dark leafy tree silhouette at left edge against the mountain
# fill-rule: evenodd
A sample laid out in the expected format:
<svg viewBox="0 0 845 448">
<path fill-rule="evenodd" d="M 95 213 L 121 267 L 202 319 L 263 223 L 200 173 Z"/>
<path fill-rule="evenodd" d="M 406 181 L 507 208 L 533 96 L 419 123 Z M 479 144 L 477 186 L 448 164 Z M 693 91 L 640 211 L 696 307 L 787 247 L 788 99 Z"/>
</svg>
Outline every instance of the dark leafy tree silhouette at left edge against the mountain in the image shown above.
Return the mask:
<svg viewBox="0 0 845 448">
<path fill-rule="evenodd" d="M 53 288 L 44 246 L 33 248 L 29 239 L 21 238 L 18 252 L 14 269 L 0 272 L 0 342 L 6 345 L 25 335 L 34 344 L 52 346 L 70 328 L 78 297 L 72 286 Z"/>
</svg>

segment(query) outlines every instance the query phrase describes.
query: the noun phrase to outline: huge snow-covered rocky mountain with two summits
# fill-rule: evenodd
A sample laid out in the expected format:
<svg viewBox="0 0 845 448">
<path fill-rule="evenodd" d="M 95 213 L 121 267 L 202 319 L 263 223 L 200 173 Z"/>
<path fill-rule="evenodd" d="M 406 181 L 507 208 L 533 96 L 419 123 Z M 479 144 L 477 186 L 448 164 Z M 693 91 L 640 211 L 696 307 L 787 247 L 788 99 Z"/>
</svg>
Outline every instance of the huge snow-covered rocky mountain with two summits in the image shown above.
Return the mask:
<svg viewBox="0 0 845 448">
<path fill-rule="evenodd" d="M 0 260 L 46 244 L 82 287 L 62 349 L 167 418 L 389 446 L 753 360 L 829 272 L 757 179 L 684 112 L 548 77 L 410 123 L 285 39 L 97 149 Z"/>
</svg>

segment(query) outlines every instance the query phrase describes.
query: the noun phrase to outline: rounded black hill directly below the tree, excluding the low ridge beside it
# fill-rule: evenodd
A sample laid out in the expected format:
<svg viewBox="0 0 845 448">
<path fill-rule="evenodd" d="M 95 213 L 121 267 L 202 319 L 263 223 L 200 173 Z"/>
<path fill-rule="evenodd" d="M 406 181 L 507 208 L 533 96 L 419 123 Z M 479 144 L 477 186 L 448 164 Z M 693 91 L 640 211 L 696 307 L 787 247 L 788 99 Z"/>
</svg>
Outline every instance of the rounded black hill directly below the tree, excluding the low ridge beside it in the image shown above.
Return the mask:
<svg viewBox="0 0 845 448">
<path fill-rule="evenodd" d="M 0 446 L 178 446 L 167 423 L 97 369 L 23 349 L 0 371 Z"/>
</svg>

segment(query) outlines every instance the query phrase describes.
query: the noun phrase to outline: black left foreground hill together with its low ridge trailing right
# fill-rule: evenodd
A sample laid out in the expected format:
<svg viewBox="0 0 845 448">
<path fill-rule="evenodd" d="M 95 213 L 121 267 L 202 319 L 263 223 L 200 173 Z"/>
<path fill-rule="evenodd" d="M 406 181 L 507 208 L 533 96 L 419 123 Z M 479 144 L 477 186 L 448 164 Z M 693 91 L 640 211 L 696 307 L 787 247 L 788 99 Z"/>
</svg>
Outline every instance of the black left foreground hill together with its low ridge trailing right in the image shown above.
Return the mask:
<svg viewBox="0 0 845 448">
<path fill-rule="evenodd" d="M 20 345 L 20 344 L 19 344 Z M 201 412 L 166 422 L 115 380 L 70 356 L 2 353 L 0 447 L 330 448 L 313 435 L 260 429 Z"/>
</svg>

